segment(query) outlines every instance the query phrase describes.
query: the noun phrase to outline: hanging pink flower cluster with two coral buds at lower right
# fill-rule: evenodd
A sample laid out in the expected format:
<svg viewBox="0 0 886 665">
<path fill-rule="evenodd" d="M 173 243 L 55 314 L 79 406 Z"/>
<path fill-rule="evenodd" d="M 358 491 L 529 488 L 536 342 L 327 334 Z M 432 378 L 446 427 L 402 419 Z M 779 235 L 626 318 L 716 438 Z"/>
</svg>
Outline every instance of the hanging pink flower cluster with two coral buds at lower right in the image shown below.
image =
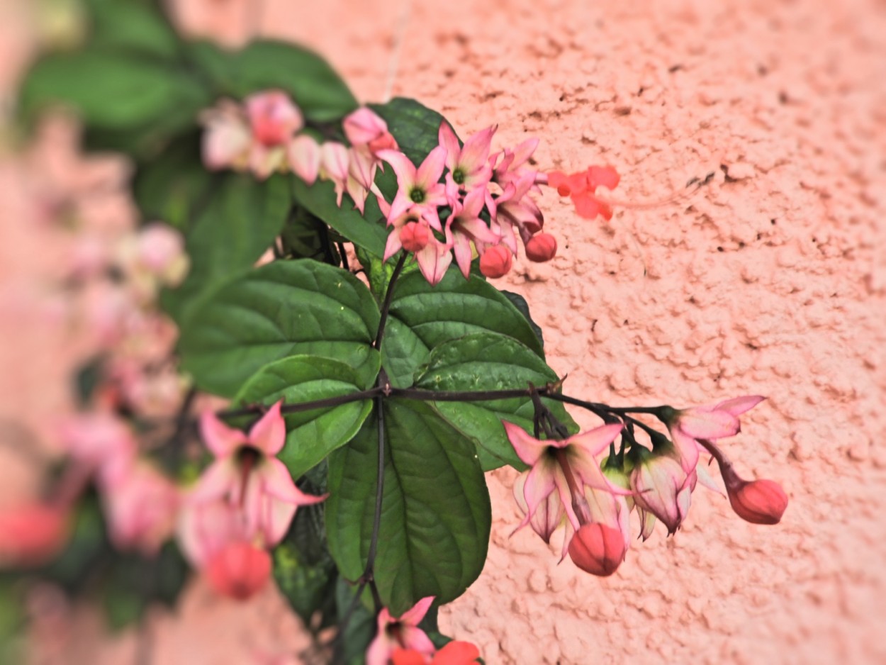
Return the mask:
<svg viewBox="0 0 886 665">
<path fill-rule="evenodd" d="M 768 480 L 745 481 L 714 440 L 737 434 L 738 416 L 763 398 L 751 395 L 718 404 L 674 410 L 664 407 L 659 418 L 673 443 L 650 434 L 652 450 L 635 442 L 627 454 L 598 462 L 623 425 L 603 425 L 563 440 L 540 441 L 520 427 L 503 422 L 517 455 L 532 468 L 514 485 L 517 504 L 525 513 L 517 528 L 529 524 L 548 543 L 565 523 L 563 557 L 568 552 L 581 569 L 611 575 L 625 559 L 630 544 L 629 515 L 636 508 L 640 534 L 646 540 L 661 520 L 672 535 L 686 519 L 696 483 L 719 491 L 701 463 L 699 450 L 719 464 L 734 512 L 755 524 L 777 524 L 788 497 Z M 614 450 L 612 448 L 611 450 Z"/>
</svg>

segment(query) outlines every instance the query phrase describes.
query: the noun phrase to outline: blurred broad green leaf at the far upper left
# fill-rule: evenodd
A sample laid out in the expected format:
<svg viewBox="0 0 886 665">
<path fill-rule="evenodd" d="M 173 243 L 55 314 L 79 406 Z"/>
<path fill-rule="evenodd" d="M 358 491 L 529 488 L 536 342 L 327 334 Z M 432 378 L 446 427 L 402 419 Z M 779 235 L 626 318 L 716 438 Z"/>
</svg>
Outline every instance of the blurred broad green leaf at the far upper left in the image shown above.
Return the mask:
<svg viewBox="0 0 886 665">
<path fill-rule="evenodd" d="M 173 117 L 194 122 L 206 106 L 203 90 L 172 66 L 119 51 L 56 53 L 37 60 L 22 85 L 26 118 L 46 106 L 73 107 L 91 128 L 132 132 Z"/>
</svg>

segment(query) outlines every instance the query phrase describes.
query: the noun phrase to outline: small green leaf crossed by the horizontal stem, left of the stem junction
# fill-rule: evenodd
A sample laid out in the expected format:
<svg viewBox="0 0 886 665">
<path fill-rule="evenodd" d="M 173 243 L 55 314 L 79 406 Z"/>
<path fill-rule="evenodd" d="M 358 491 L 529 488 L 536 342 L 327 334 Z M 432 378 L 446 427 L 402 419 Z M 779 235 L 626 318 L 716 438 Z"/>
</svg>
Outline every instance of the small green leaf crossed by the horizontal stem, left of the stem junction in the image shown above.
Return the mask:
<svg viewBox="0 0 886 665">
<path fill-rule="evenodd" d="M 369 349 L 367 375 L 381 365 L 378 352 Z M 316 356 L 290 356 L 267 364 L 249 379 L 234 398 L 236 403 L 287 405 L 350 395 L 363 384 L 357 373 L 337 360 Z M 372 410 L 372 400 L 349 402 L 311 411 L 286 413 L 286 444 L 277 456 L 299 478 L 327 455 L 345 445 Z"/>
</svg>

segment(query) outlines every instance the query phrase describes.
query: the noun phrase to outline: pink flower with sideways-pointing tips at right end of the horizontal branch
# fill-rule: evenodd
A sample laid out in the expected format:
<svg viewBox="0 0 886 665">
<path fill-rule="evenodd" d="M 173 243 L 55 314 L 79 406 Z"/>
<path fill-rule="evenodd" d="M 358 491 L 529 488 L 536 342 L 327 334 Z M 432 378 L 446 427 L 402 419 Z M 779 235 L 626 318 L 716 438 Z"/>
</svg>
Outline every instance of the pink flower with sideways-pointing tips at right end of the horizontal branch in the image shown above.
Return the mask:
<svg viewBox="0 0 886 665">
<path fill-rule="evenodd" d="M 696 406 L 664 414 L 664 422 L 673 444 L 680 451 L 680 462 L 688 473 L 698 463 L 698 440 L 716 440 L 734 436 L 742 429 L 738 417 L 750 411 L 766 397 L 746 395 L 717 404 Z"/>
</svg>

